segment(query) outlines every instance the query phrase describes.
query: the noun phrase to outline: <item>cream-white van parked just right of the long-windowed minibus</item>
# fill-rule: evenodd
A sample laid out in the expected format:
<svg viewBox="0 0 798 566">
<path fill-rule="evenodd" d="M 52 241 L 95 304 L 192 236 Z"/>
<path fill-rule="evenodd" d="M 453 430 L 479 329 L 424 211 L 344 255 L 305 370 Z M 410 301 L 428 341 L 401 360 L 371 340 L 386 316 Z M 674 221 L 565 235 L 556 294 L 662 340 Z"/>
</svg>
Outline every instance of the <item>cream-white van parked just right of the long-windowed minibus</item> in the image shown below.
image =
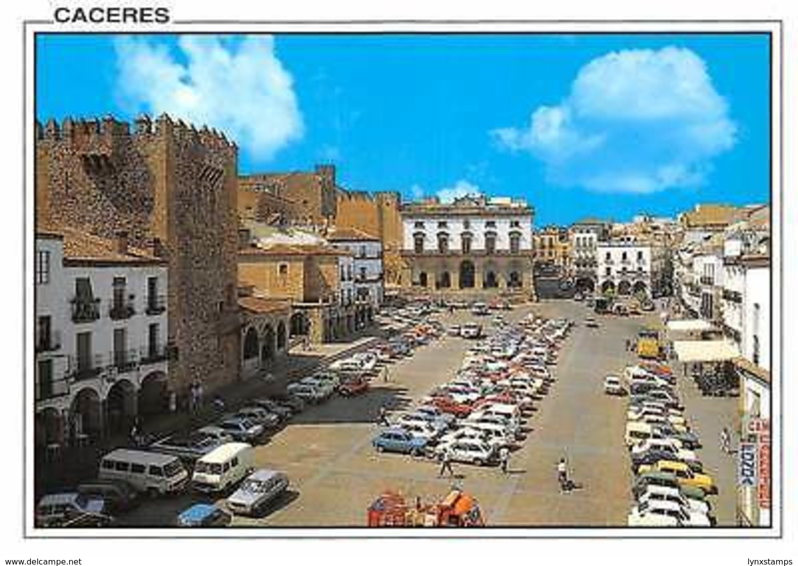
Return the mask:
<svg viewBox="0 0 798 566">
<path fill-rule="evenodd" d="M 194 489 L 225 491 L 255 469 L 255 449 L 246 442 L 227 442 L 197 460 L 192 476 Z"/>
</svg>

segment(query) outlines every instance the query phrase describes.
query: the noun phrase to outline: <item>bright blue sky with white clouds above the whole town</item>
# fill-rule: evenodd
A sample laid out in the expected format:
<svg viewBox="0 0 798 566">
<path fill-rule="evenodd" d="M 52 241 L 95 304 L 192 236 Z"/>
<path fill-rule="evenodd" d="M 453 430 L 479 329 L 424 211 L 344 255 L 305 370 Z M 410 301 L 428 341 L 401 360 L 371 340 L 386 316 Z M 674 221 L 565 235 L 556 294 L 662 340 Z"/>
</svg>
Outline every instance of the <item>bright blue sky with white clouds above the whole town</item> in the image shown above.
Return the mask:
<svg viewBox="0 0 798 566">
<path fill-rule="evenodd" d="M 39 35 L 39 120 L 223 130 L 242 172 L 332 162 L 406 199 L 526 198 L 535 224 L 769 194 L 766 35 Z"/>
</svg>

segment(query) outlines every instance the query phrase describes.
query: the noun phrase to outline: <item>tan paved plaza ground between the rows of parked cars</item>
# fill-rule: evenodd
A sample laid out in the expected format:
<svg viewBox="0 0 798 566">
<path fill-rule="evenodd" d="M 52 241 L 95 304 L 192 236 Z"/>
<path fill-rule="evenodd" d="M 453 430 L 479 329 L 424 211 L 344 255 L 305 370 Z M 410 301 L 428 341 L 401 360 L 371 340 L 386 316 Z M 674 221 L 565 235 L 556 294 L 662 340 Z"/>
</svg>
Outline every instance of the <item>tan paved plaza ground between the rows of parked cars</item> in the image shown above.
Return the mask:
<svg viewBox="0 0 798 566">
<path fill-rule="evenodd" d="M 447 336 L 390 366 L 389 382 L 375 381 L 364 396 L 336 397 L 306 410 L 259 445 L 256 464 L 288 473 L 291 489 L 263 517 L 235 517 L 234 525 L 360 527 L 368 505 L 385 490 L 398 491 L 409 501 L 437 501 L 457 483 L 480 501 L 492 526 L 625 526 L 632 502 L 623 441 L 626 399 L 605 395 L 602 379 L 634 361 L 625 341 L 646 317 L 601 317 L 601 327 L 591 329 L 583 325 L 590 314 L 583 303 L 552 301 L 519 307 L 505 319 L 518 320 L 530 311 L 567 317 L 577 325 L 560 351 L 555 382 L 527 421 L 526 440 L 512 454 L 510 473 L 455 465 L 455 477 L 440 478 L 434 461 L 377 453 L 371 446 L 381 405 L 392 413 L 410 409 L 460 367 L 472 342 Z M 472 315 L 457 311 L 440 319 L 462 323 Z M 714 504 L 719 524 L 734 524 L 733 457 L 717 447 L 721 427 L 731 424 L 734 400 L 701 398 L 681 377 L 679 389 L 685 416 L 705 444 L 699 457 L 720 485 Z M 571 493 L 559 492 L 555 465 L 563 456 L 581 485 Z M 202 496 L 187 493 L 150 501 L 120 517 L 120 524 L 167 526 L 192 501 L 202 501 Z"/>
</svg>

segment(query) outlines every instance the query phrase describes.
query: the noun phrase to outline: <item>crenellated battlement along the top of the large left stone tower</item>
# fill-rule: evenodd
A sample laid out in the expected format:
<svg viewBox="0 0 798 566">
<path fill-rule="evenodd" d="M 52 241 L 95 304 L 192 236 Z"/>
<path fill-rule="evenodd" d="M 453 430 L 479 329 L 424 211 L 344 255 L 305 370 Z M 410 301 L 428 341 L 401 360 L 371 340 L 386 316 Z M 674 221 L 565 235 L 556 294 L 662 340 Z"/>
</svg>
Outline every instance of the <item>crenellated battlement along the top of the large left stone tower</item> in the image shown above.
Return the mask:
<svg viewBox="0 0 798 566">
<path fill-rule="evenodd" d="M 67 117 L 59 125 L 50 118 L 44 125 L 36 121 L 34 131 L 37 142 L 65 143 L 70 145 L 105 146 L 114 141 L 159 141 L 171 138 L 182 144 L 197 144 L 207 148 L 237 149 L 237 146 L 216 129 L 203 125 L 186 124 L 183 120 L 173 120 L 168 114 L 161 114 L 154 121 L 146 114 L 137 117 L 133 125 L 118 121 L 113 116 L 90 119 Z"/>
</svg>

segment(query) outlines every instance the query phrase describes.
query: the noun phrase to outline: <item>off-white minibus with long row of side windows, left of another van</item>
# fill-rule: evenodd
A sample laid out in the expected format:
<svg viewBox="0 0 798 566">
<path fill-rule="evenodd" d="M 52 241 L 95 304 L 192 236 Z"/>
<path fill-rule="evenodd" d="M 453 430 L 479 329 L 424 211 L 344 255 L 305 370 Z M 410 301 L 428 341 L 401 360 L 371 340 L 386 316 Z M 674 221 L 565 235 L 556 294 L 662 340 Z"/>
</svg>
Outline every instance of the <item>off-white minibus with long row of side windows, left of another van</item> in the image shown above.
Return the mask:
<svg viewBox="0 0 798 566">
<path fill-rule="evenodd" d="M 102 457 L 102 480 L 124 480 L 150 495 L 177 493 L 188 483 L 188 472 L 180 458 L 144 450 L 116 449 Z"/>
</svg>

